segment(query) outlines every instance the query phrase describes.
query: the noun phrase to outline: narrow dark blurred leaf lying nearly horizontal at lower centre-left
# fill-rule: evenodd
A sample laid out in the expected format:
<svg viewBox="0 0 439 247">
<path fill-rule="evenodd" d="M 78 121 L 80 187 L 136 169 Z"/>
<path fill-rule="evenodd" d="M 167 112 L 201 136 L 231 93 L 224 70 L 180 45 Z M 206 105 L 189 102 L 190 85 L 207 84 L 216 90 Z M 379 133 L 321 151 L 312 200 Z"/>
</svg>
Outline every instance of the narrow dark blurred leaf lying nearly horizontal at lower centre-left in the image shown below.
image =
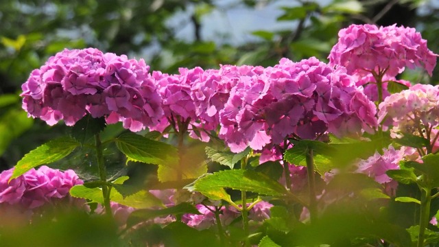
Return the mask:
<svg viewBox="0 0 439 247">
<path fill-rule="evenodd" d="M 165 215 L 178 215 L 183 213 L 193 213 L 200 214 L 198 209 L 196 209 L 192 204 L 187 202 L 182 202 L 173 207 L 168 207 L 165 209 L 139 209 L 128 216 L 126 222 L 127 227 L 134 226 L 140 222 L 153 219 L 154 217 L 165 216 Z"/>
</svg>

